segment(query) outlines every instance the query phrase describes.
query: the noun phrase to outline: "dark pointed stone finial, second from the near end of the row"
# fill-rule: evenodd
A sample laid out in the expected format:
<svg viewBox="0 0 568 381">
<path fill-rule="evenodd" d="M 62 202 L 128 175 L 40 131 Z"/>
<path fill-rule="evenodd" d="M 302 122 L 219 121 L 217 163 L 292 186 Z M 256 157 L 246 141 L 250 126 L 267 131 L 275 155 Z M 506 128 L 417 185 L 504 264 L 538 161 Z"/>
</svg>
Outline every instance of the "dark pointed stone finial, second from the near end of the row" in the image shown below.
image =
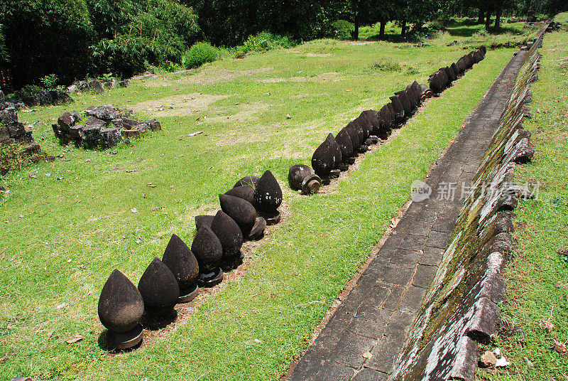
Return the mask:
<svg viewBox="0 0 568 381">
<path fill-rule="evenodd" d="M 144 301 L 144 310 L 155 318 L 175 313 L 173 307 L 180 297 L 180 286 L 174 274 L 158 259 L 148 264 L 138 281 L 138 291 Z"/>
</svg>

